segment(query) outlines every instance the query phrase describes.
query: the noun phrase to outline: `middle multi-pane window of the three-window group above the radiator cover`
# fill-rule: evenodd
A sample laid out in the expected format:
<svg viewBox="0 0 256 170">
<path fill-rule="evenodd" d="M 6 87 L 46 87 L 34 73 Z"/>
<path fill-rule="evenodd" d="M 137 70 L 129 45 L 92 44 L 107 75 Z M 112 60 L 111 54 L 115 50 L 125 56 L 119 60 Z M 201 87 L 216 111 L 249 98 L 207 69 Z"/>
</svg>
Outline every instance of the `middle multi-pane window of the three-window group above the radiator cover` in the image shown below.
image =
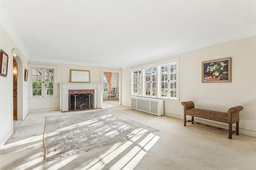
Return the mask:
<svg viewBox="0 0 256 170">
<path fill-rule="evenodd" d="M 156 67 L 145 69 L 145 95 L 156 96 Z"/>
</svg>

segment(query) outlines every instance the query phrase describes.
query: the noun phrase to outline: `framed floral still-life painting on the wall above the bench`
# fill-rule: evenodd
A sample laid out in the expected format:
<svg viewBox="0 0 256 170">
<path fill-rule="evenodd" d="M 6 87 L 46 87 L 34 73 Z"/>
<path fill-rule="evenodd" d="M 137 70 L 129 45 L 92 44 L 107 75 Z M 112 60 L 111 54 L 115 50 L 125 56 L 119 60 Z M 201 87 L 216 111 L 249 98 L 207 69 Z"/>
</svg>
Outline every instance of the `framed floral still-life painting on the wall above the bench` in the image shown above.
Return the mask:
<svg viewBox="0 0 256 170">
<path fill-rule="evenodd" d="M 202 82 L 231 82 L 231 58 L 202 62 Z"/>
</svg>

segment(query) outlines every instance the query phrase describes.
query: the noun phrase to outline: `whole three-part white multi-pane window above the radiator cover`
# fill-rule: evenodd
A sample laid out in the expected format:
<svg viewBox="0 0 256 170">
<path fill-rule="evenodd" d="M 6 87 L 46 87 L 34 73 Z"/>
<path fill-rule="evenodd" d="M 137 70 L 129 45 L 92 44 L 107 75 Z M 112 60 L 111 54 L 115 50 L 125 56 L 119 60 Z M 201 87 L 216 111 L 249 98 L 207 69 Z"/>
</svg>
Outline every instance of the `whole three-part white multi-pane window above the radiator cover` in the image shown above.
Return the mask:
<svg viewBox="0 0 256 170">
<path fill-rule="evenodd" d="M 179 101 L 178 66 L 177 58 L 134 68 L 132 95 Z"/>
</svg>

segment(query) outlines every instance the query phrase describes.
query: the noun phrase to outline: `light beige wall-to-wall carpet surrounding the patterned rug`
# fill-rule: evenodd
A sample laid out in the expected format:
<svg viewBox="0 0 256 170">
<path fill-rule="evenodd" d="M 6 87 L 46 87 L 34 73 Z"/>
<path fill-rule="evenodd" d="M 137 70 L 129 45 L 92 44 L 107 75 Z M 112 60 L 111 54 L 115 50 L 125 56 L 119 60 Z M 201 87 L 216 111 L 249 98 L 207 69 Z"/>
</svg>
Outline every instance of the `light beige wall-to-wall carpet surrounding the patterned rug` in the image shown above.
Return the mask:
<svg viewBox="0 0 256 170">
<path fill-rule="evenodd" d="M 130 163 L 136 165 L 129 170 L 255 170 L 256 138 L 243 135 L 243 129 L 239 136 L 234 134 L 233 139 L 228 139 L 226 131 L 191 123 L 184 127 L 183 119 L 158 117 L 120 106 L 116 101 L 104 103 L 105 109 L 102 110 L 107 109 L 159 131 L 65 158 L 44 161 L 45 117 L 70 113 L 28 113 L 0 150 L 0 170 L 110 170 L 123 159 L 128 163 L 120 163 L 122 167 Z M 158 140 L 148 149 L 150 140 L 146 139 L 152 135 Z M 146 146 L 140 145 L 145 140 L 149 141 Z M 131 154 L 134 149 L 140 150 Z M 140 152 L 146 154 L 141 156 Z"/>
</svg>

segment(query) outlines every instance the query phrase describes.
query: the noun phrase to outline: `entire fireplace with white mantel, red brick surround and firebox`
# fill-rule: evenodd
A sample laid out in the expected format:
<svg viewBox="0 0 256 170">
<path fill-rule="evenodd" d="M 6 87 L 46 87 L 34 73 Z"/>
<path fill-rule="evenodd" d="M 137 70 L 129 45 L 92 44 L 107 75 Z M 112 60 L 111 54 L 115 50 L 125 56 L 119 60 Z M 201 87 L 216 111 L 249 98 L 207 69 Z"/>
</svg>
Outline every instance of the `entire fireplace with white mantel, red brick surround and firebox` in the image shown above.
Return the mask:
<svg viewBox="0 0 256 170">
<path fill-rule="evenodd" d="M 85 98 L 82 99 L 84 101 L 83 103 L 80 103 L 79 107 L 84 107 L 86 105 L 86 108 L 82 109 L 96 109 L 100 108 L 101 105 L 101 93 L 100 93 L 100 88 L 101 84 L 100 83 L 59 83 L 60 85 L 60 111 L 70 111 L 74 110 L 74 106 L 76 104 L 72 104 L 71 107 L 71 94 L 72 95 L 72 100 L 74 96 L 76 96 L 76 100 L 80 99 L 80 97 Z M 82 96 L 78 94 L 84 94 Z M 90 95 L 90 100 L 88 98 L 88 95 Z M 87 104 L 86 104 L 86 98 L 87 98 Z M 89 104 L 90 101 L 90 104 Z M 76 107 L 76 110 L 78 107 Z M 81 108 L 80 108 L 81 109 Z"/>
</svg>

